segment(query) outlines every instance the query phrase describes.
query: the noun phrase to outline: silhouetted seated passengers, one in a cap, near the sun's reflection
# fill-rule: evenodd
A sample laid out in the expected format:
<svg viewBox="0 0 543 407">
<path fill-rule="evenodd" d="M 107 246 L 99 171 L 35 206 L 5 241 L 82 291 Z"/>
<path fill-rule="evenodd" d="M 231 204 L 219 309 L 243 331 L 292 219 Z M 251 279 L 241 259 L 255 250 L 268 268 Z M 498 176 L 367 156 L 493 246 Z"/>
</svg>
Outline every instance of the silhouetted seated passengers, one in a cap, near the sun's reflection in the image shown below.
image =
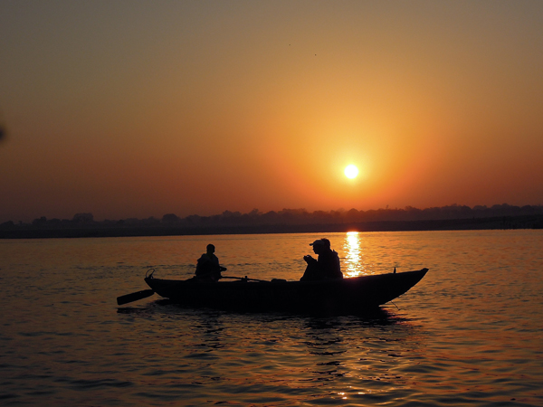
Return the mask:
<svg viewBox="0 0 543 407">
<path fill-rule="evenodd" d="M 310 243 L 310 246 L 313 246 L 313 251 L 319 255 L 319 259 L 315 260 L 310 255 L 303 256 L 303 260 L 306 260 L 308 267 L 300 281 L 343 279 L 338 253 L 331 250 L 330 241 L 328 239 L 319 239 Z"/>
</svg>

